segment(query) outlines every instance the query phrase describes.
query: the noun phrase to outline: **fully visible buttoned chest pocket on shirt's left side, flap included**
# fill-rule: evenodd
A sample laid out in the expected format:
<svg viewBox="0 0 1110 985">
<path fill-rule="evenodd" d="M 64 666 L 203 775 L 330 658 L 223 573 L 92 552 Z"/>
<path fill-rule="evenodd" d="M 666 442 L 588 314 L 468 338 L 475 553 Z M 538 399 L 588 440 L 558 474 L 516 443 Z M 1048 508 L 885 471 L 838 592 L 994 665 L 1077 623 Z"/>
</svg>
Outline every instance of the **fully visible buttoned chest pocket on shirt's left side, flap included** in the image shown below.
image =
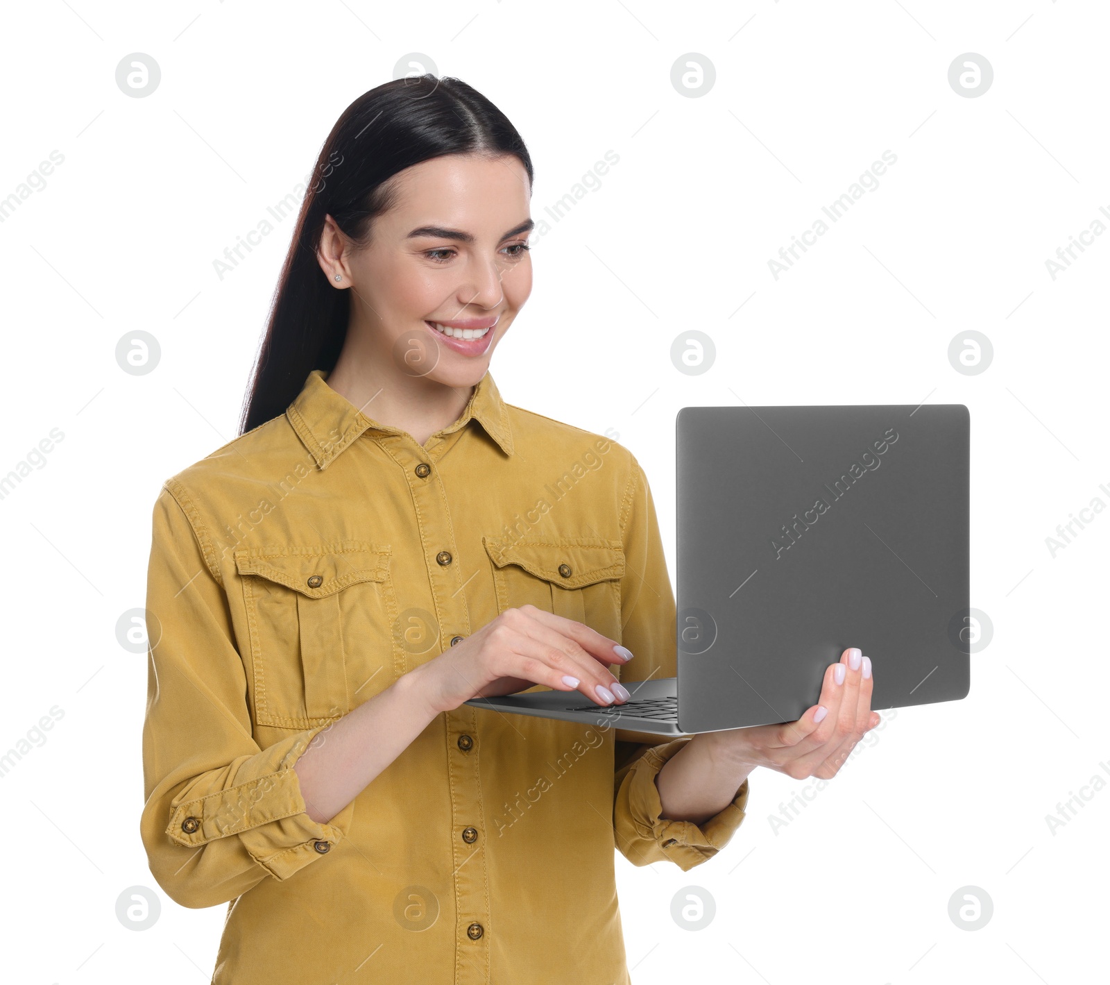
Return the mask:
<svg viewBox="0 0 1110 985">
<path fill-rule="evenodd" d="M 260 725 L 311 728 L 395 680 L 390 547 L 362 541 L 235 552 Z"/>
</svg>

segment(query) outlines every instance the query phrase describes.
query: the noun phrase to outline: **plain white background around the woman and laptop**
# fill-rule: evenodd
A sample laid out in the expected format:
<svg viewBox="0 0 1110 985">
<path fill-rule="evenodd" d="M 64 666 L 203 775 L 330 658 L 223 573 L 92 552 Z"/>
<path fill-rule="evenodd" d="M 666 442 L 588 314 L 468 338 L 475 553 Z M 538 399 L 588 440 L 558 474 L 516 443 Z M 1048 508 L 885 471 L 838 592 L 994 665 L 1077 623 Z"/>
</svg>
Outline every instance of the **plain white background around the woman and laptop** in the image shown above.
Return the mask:
<svg viewBox="0 0 1110 985">
<path fill-rule="evenodd" d="M 1046 537 L 1096 496 L 1110 504 L 1110 235 L 1054 279 L 1046 260 L 1110 210 L 1108 29 L 1104 4 L 1071 0 L 7 7 L 0 199 L 64 155 L 0 223 L 0 474 L 64 434 L 0 500 L 0 752 L 63 712 L 0 778 L 18 979 L 211 974 L 225 907 L 182 908 L 147 868 L 145 656 L 121 649 L 115 623 L 144 601 L 162 481 L 235 434 L 293 220 L 223 279 L 213 261 L 408 52 L 515 123 L 537 220 L 619 154 L 536 241 L 533 296 L 492 372 L 511 403 L 619 433 L 672 563 L 680 406 L 971 412 L 971 604 L 993 637 L 972 656 L 970 695 L 890 716 L 777 834 L 769 817 L 816 781 L 757 771 L 745 824 L 689 873 L 618 855 L 637 985 L 1104 976 L 1110 790 L 1087 787 L 1054 834 L 1046 815 L 1110 781 L 1110 515 L 1056 556 Z M 115 83 L 132 52 L 161 67 L 148 98 Z M 687 52 L 716 68 L 699 98 L 670 82 Z M 993 67 L 977 98 L 948 82 L 965 52 Z M 776 280 L 779 247 L 885 150 L 897 163 L 878 189 Z M 142 376 L 115 362 L 138 329 L 161 345 Z M 689 329 L 716 344 L 702 375 L 670 363 Z M 948 346 L 972 329 L 993 361 L 966 375 Z M 135 885 L 162 902 L 142 933 L 115 916 Z M 690 885 L 716 903 L 696 933 L 670 918 Z M 992 901 L 981 929 L 949 916 L 965 886 Z"/>
</svg>

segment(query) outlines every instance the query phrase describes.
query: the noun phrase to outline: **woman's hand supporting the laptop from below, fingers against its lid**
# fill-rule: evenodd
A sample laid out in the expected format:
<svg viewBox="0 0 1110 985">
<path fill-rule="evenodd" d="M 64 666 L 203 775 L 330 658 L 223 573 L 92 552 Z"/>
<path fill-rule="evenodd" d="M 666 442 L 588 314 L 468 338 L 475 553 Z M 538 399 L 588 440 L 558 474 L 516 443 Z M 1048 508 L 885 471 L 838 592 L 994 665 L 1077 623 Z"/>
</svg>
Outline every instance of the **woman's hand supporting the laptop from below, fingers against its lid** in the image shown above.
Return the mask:
<svg viewBox="0 0 1110 985">
<path fill-rule="evenodd" d="M 753 768 L 766 766 L 794 780 L 829 780 L 856 743 L 881 721 L 879 713 L 871 711 L 874 690 L 871 662 L 852 646 L 825 671 L 820 703 L 797 722 L 726 728 L 698 737 L 708 740 L 718 754 Z"/>
</svg>

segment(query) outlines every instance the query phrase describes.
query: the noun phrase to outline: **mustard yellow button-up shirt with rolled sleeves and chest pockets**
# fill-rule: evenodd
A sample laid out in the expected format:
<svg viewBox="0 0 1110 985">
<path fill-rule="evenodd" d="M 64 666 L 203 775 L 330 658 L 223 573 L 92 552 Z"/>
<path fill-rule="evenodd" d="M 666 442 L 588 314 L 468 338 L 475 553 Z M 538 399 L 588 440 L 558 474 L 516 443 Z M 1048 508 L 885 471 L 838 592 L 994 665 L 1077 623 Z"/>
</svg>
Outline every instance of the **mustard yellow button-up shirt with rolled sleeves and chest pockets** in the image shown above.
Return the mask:
<svg viewBox="0 0 1110 985">
<path fill-rule="evenodd" d="M 293 764 L 509 606 L 623 643 L 635 657 L 612 670 L 626 683 L 674 676 L 675 601 L 639 463 L 504 403 L 488 373 L 425 445 L 326 376 L 154 504 L 151 873 L 182 906 L 228 904 L 216 985 L 630 982 L 614 846 L 687 871 L 744 820 L 747 781 L 700 825 L 660 817 L 655 776 L 689 736 L 464 704 L 327 823 L 305 812 Z"/>
</svg>

